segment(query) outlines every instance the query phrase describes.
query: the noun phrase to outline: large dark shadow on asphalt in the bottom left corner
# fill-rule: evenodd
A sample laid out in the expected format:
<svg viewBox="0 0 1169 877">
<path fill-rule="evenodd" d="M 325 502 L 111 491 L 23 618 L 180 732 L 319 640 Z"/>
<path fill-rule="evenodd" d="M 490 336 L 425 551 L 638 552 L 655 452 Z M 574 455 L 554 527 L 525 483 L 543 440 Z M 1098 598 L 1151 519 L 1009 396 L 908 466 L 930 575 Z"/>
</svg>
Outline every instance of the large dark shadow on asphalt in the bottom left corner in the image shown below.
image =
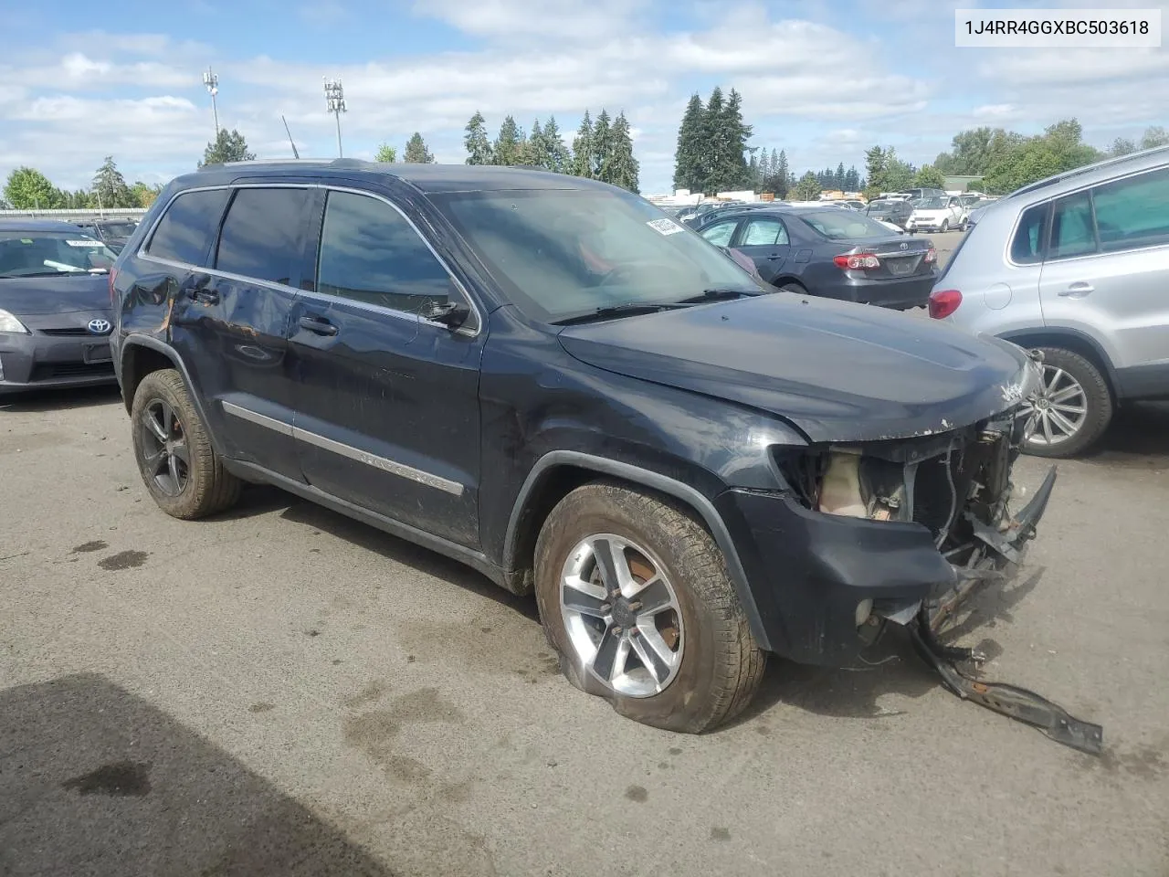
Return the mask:
<svg viewBox="0 0 1169 877">
<path fill-rule="evenodd" d="M 223 750 L 99 675 L 0 691 L 0 873 L 390 871 Z"/>
</svg>

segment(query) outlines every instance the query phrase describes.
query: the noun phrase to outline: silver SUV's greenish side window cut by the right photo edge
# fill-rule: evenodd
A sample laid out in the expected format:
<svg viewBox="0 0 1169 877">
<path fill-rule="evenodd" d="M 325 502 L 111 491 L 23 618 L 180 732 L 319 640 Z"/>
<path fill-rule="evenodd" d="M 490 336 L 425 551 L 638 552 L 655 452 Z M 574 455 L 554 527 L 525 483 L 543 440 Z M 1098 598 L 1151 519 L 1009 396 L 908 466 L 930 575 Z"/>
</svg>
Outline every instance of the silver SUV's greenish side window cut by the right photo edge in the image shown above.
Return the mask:
<svg viewBox="0 0 1169 877">
<path fill-rule="evenodd" d="M 1169 243 L 1169 167 L 1092 191 L 1105 253 Z"/>
</svg>

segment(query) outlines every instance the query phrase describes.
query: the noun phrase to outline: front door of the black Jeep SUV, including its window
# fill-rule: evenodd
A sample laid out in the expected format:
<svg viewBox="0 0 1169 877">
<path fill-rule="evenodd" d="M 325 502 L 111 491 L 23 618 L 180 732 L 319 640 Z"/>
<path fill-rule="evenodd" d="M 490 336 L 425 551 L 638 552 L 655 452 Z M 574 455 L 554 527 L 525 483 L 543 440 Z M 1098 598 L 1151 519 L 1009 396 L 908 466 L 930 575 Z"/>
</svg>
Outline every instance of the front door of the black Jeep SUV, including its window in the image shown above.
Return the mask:
<svg viewBox="0 0 1169 877">
<path fill-rule="evenodd" d="M 472 311 L 451 330 L 430 303 L 465 302 L 406 214 L 328 191 L 312 291 L 292 311 L 296 437 L 309 483 L 478 547 L 479 359 Z"/>
</svg>

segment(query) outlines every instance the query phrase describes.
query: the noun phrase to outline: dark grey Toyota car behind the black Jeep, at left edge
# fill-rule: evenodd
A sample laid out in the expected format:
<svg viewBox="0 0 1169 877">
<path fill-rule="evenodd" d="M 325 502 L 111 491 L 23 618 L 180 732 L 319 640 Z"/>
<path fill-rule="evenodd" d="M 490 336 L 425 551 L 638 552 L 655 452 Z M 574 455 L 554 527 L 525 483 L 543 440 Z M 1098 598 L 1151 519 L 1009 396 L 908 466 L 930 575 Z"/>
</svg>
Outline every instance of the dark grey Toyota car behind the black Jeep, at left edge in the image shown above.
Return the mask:
<svg viewBox="0 0 1169 877">
<path fill-rule="evenodd" d="M 0 396 L 115 381 L 113 260 L 69 222 L 0 219 Z"/>
</svg>

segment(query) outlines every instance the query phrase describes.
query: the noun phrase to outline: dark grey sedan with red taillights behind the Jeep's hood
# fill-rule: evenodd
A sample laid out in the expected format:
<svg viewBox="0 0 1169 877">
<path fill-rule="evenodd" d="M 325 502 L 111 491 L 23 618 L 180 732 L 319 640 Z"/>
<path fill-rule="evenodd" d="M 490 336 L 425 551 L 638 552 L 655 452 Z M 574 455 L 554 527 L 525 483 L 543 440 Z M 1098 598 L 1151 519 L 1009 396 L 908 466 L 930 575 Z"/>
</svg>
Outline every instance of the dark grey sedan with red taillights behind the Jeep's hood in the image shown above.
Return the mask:
<svg viewBox="0 0 1169 877">
<path fill-rule="evenodd" d="M 928 239 L 905 240 L 831 205 L 738 210 L 703 226 L 715 246 L 740 250 L 773 286 L 886 308 L 924 308 L 938 277 Z"/>
</svg>

